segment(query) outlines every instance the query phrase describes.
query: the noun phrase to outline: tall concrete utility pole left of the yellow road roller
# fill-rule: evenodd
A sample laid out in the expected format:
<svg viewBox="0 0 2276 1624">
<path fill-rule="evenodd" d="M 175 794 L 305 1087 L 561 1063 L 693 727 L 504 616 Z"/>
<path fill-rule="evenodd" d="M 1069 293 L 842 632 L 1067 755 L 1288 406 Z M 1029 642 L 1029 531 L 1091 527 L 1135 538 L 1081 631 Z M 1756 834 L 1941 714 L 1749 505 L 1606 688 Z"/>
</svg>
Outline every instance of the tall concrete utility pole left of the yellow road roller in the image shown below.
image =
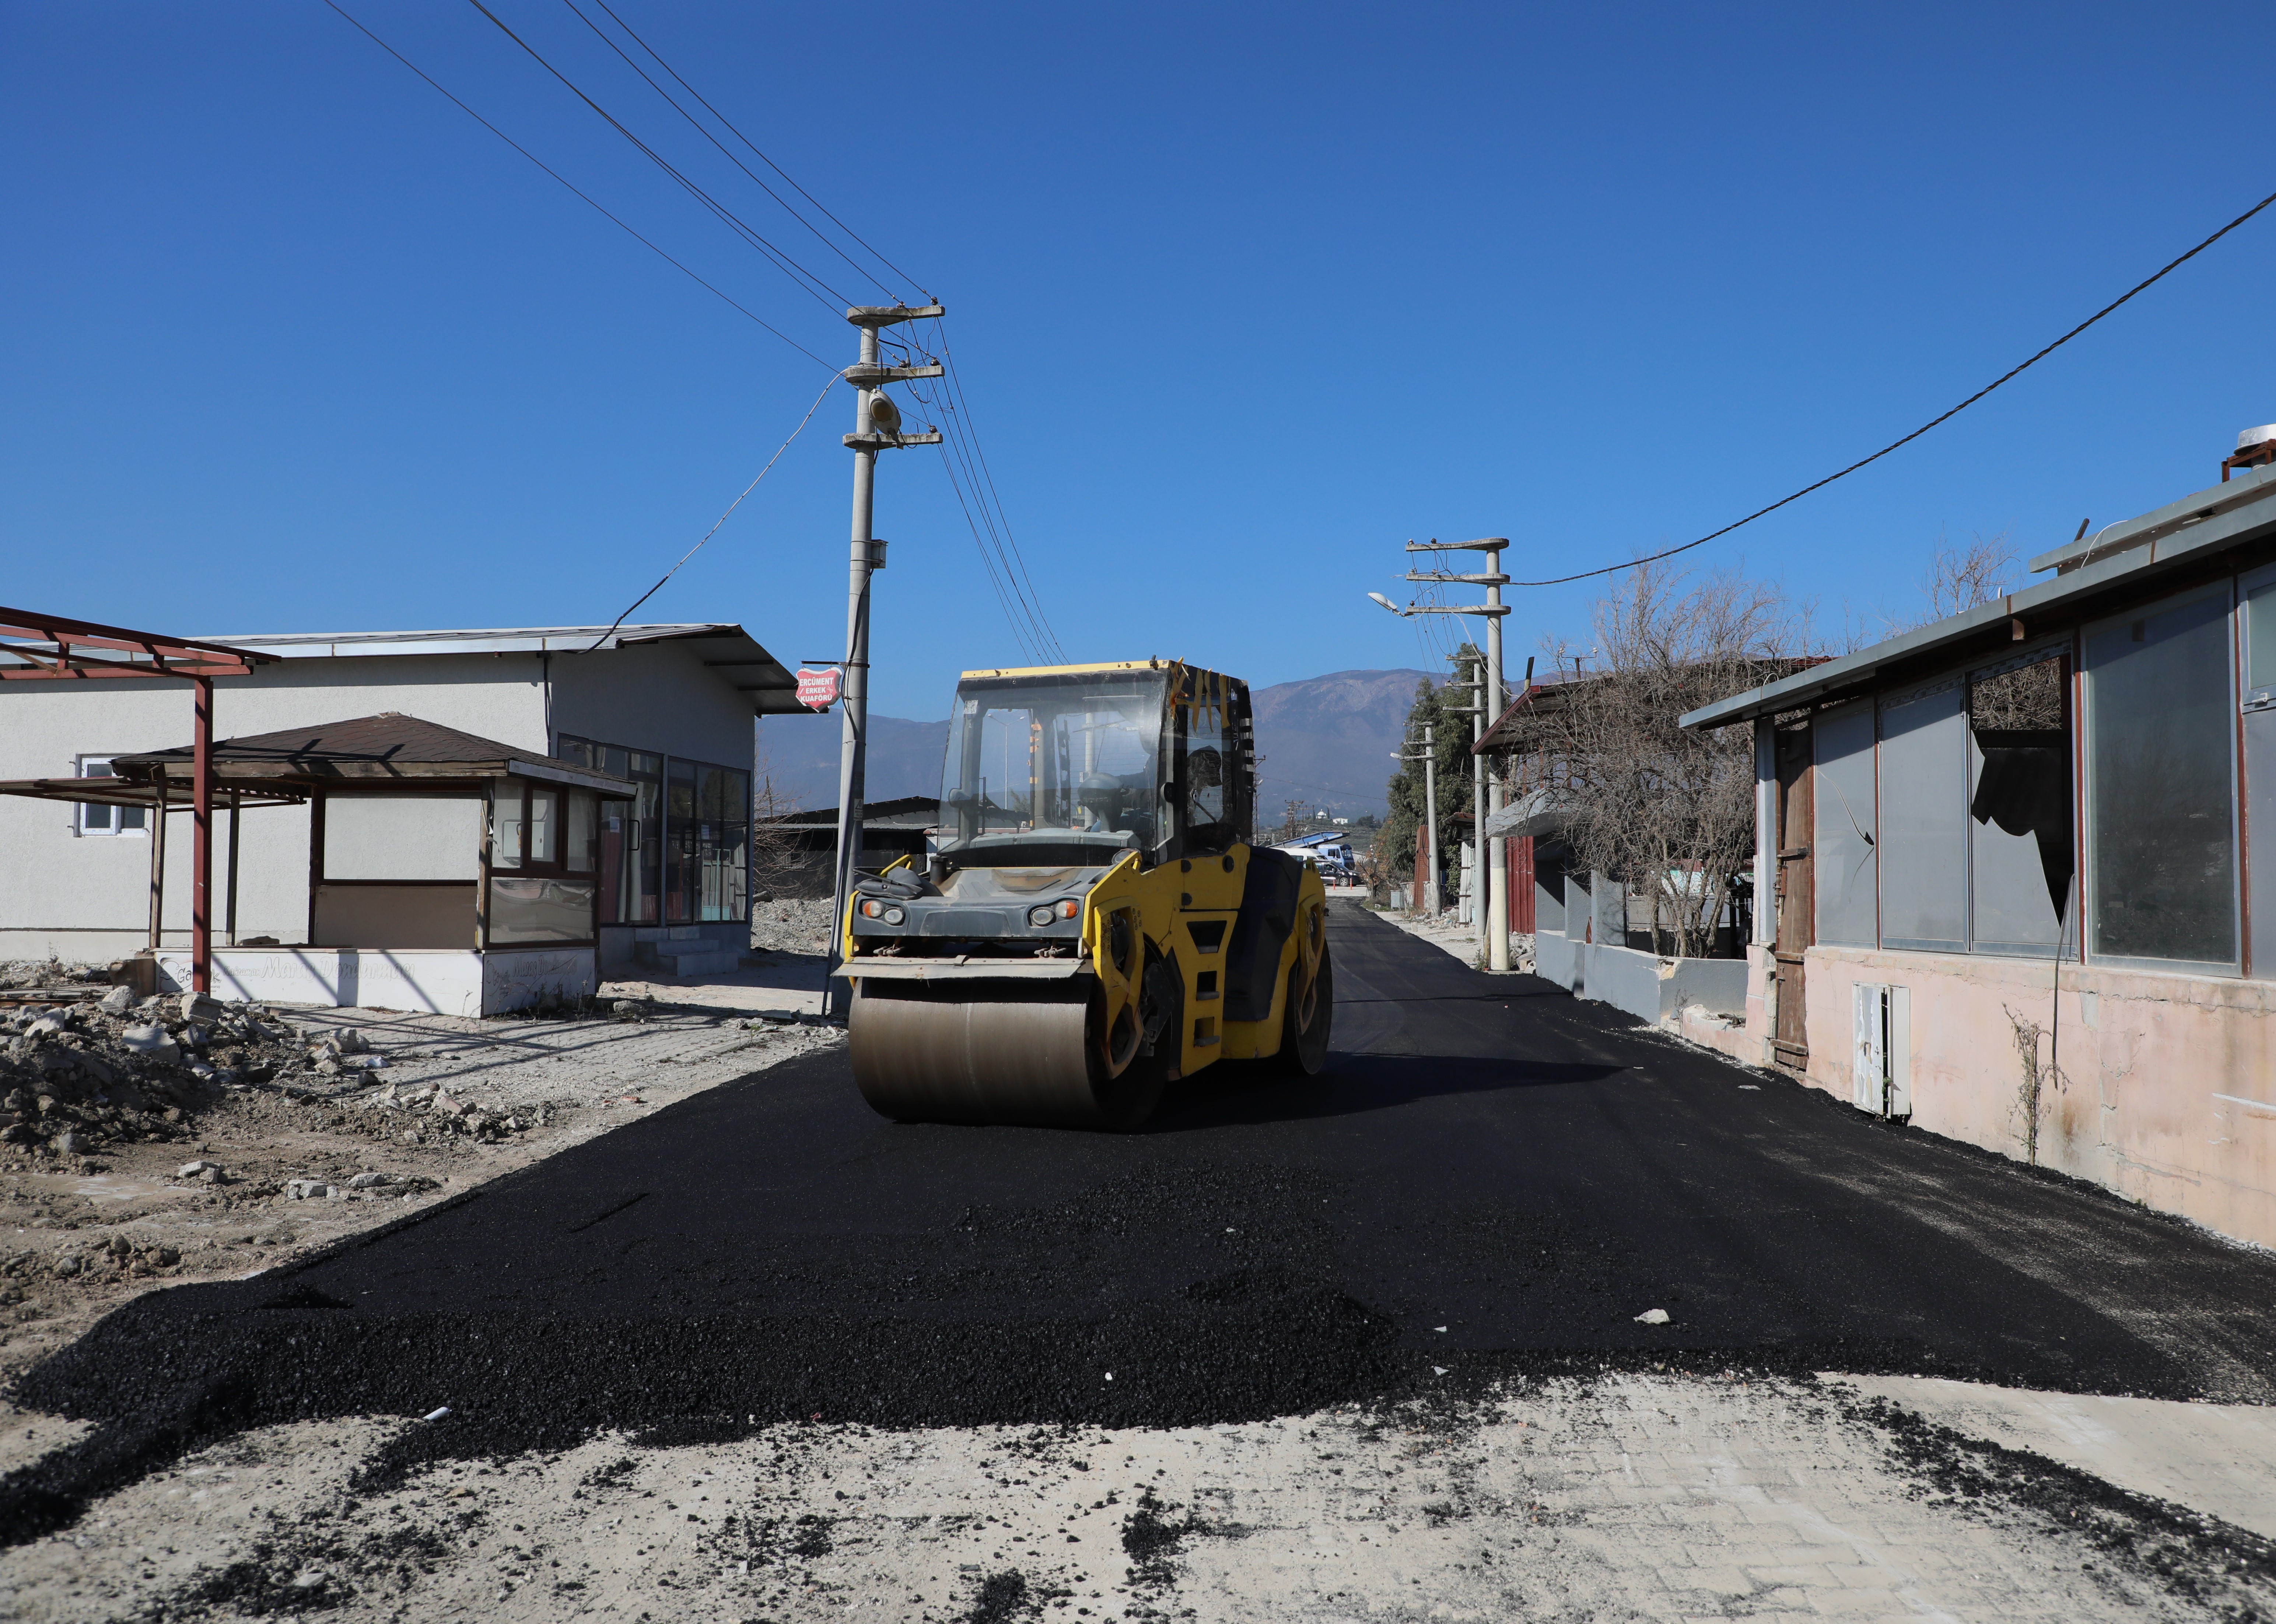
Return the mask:
<svg viewBox="0 0 2276 1624">
<path fill-rule="evenodd" d="M 860 362 L 842 375 L 853 384 L 853 432 L 844 444 L 853 450 L 853 548 L 847 571 L 847 662 L 842 680 L 844 730 L 838 746 L 838 887 L 831 914 L 831 951 L 822 1008 L 842 1014 L 851 987 L 835 978 L 842 958 L 847 898 L 853 894 L 853 871 L 860 867 L 863 771 L 869 748 L 869 575 L 885 566 L 885 544 L 869 535 L 876 505 L 876 453 L 894 446 L 938 446 L 940 434 L 904 434 L 901 409 L 881 393 L 885 384 L 906 378 L 940 378 L 940 366 L 883 366 L 879 362 L 879 328 L 940 316 L 940 305 L 853 305 L 847 321 L 860 328 Z"/>
</svg>

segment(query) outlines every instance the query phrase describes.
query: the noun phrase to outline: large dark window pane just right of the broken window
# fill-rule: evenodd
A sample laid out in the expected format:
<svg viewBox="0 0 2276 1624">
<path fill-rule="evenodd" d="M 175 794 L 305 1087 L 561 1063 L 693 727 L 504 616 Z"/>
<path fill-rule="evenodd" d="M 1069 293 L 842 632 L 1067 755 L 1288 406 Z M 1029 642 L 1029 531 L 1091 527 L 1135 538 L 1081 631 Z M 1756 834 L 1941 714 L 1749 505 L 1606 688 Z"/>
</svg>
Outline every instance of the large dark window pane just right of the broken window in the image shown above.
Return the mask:
<svg viewBox="0 0 2276 1624">
<path fill-rule="evenodd" d="M 2094 955 L 2237 964 L 2228 585 L 2089 625 L 2087 883 Z"/>
</svg>

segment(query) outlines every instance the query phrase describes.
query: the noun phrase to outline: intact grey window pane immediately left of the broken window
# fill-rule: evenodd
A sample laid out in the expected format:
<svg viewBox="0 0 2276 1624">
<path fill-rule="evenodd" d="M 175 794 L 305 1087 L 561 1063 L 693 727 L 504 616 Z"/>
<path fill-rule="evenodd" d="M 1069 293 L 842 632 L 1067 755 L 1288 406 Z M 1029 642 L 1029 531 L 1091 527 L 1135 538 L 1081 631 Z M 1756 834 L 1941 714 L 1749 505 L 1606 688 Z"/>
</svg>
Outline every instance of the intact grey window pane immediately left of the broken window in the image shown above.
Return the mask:
<svg viewBox="0 0 2276 1624">
<path fill-rule="evenodd" d="M 1964 698 L 1966 689 L 1953 676 L 1880 703 L 1882 946 L 1966 951 Z"/>
</svg>

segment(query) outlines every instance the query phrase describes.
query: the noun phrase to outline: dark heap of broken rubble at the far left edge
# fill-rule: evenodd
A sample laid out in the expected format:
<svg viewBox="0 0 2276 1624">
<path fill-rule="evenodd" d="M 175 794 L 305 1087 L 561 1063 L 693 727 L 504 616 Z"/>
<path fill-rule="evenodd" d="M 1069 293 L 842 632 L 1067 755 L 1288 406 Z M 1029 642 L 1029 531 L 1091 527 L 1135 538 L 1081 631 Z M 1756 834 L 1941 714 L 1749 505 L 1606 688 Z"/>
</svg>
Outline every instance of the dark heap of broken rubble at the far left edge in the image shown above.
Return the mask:
<svg viewBox="0 0 2276 1624">
<path fill-rule="evenodd" d="M 312 1051 L 266 1005 L 196 992 L 34 1003 L 0 1019 L 0 1144 L 86 1155 L 178 1140 L 232 1087 L 312 1083 L 357 1060 L 330 1042 Z"/>
</svg>

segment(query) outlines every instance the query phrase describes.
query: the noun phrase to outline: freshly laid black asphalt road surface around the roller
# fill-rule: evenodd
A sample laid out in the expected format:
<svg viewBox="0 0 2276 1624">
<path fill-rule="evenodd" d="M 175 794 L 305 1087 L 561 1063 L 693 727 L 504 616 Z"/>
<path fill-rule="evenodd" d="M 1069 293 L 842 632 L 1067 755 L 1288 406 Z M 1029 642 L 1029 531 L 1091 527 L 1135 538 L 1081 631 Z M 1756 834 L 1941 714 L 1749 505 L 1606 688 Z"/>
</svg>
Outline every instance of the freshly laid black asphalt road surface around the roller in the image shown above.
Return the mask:
<svg viewBox="0 0 2276 1624">
<path fill-rule="evenodd" d="M 428 1415 L 366 1481 L 603 1431 L 1254 1422 L 1602 1369 L 2267 1401 L 2276 1260 L 1873 1124 L 1338 905 L 1327 1076 L 1138 1135 L 894 1126 L 842 1049 L 34 1369 L 0 1528 L 218 1435 Z M 1668 1324 L 1639 1324 L 1661 1308 Z"/>
</svg>

